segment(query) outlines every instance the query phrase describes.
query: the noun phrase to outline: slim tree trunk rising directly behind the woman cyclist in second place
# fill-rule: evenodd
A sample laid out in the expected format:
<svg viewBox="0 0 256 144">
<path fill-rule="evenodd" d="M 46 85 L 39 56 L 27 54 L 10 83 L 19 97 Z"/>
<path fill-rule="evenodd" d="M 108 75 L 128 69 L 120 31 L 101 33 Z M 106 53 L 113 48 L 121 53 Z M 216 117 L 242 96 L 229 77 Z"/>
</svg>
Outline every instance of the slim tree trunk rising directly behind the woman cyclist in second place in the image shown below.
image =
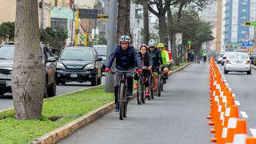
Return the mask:
<svg viewBox="0 0 256 144">
<path fill-rule="evenodd" d="M 149 32 L 149 7 L 147 0 L 142 1 L 143 6 L 143 24 L 144 24 L 144 43 L 147 44 L 150 40 Z"/>
</svg>

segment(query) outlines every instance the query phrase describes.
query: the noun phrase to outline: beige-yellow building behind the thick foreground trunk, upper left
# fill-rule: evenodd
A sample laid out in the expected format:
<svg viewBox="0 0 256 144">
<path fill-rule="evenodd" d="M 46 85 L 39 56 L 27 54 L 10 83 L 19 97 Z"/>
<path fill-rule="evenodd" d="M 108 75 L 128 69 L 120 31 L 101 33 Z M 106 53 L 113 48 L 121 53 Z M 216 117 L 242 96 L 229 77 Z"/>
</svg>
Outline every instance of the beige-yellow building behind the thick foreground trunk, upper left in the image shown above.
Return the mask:
<svg viewBox="0 0 256 144">
<path fill-rule="evenodd" d="M 40 2 L 41 0 L 38 0 Z M 45 27 L 50 26 L 50 10 L 52 6 L 50 5 L 49 0 L 46 0 L 45 3 L 45 18 L 44 23 Z M 16 14 L 16 0 L 0 0 L 0 24 L 2 22 L 14 22 L 15 21 L 15 14 Z M 38 18 L 39 18 L 39 26 L 41 23 L 41 9 L 38 11 Z"/>
</svg>

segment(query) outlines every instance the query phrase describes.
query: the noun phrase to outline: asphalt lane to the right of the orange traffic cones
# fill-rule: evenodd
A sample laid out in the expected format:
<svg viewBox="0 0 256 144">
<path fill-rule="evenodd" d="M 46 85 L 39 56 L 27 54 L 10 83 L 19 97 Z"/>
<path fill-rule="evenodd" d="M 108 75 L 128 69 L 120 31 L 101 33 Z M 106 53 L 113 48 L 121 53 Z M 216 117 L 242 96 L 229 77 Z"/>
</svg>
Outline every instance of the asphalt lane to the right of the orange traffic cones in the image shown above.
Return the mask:
<svg viewBox="0 0 256 144">
<path fill-rule="evenodd" d="M 222 74 L 224 74 L 223 66 L 219 65 L 219 67 L 222 70 Z M 235 94 L 236 101 L 240 104 L 240 106 L 238 106 L 240 118 L 247 120 L 248 134 L 253 136 L 250 129 L 256 129 L 256 72 L 252 70 L 251 75 L 230 72 L 223 76 L 226 78 L 232 92 Z M 246 114 L 242 115 L 241 112 L 245 112 Z M 256 133 L 254 133 L 254 136 L 256 137 Z"/>
</svg>

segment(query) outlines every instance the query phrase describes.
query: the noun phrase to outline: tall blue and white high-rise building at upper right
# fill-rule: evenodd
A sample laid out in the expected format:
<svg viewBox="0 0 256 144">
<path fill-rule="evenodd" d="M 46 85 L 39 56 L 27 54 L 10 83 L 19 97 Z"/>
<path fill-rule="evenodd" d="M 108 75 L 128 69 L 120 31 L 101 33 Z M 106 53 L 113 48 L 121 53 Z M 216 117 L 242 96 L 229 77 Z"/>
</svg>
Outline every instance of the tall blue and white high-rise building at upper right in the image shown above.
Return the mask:
<svg viewBox="0 0 256 144">
<path fill-rule="evenodd" d="M 244 26 L 245 21 L 255 20 L 255 0 L 226 0 L 224 2 L 224 45 L 242 44 L 254 38 L 254 29 Z"/>
</svg>

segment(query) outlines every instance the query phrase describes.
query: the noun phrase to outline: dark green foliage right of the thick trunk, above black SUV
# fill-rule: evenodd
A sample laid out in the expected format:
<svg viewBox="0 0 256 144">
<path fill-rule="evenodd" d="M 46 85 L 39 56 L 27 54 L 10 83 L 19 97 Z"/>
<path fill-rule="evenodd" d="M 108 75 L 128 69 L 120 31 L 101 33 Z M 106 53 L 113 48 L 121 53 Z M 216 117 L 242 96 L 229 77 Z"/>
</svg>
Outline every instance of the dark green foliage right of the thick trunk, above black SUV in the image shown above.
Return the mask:
<svg viewBox="0 0 256 144">
<path fill-rule="evenodd" d="M 47 27 L 45 30 L 40 30 L 40 34 L 41 42 L 46 42 L 57 54 L 59 54 L 66 45 L 67 31 L 62 27 Z"/>
</svg>

